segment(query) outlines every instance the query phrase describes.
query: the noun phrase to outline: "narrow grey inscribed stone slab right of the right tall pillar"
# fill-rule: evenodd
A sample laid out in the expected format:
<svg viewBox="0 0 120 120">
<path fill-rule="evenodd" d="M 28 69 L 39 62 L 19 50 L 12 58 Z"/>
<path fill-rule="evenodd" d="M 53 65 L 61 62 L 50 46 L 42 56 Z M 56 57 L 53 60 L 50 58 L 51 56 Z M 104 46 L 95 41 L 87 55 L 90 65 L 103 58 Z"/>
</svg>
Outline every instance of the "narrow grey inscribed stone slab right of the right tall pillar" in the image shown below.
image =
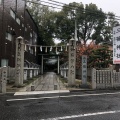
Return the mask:
<svg viewBox="0 0 120 120">
<path fill-rule="evenodd" d="M 82 84 L 87 85 L 87 55 L 82 55 Z"/>
</svg>

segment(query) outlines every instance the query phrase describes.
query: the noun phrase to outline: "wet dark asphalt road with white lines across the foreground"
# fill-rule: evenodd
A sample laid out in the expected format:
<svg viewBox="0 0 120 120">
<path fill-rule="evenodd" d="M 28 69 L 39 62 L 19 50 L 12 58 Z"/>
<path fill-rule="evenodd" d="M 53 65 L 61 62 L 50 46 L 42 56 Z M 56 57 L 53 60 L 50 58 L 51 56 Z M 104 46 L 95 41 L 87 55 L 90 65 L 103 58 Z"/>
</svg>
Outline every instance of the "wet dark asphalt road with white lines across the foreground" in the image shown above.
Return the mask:
<svg viewBox="0 0 120 120">
<path fill-rule="evenodd" d="M 0 120 L 120 120 L 120 91 L 1 94 Z"/>
</svg>

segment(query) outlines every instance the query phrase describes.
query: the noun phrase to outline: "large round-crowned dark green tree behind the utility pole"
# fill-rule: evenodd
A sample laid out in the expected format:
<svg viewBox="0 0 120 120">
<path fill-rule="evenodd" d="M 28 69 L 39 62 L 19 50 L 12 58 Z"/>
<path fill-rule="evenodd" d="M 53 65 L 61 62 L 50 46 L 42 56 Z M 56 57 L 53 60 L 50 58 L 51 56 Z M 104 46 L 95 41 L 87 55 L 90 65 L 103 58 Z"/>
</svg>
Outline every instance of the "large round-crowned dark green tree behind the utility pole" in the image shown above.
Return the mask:
<svg viewBox="0 0 120 120">
<path fill-rule="evenodd" d="M 99 34 L 104 26 L 105 14 L 95 4 L 70 3 L 58 13 L 56 36 L 64 41 L 70 38 L 77 21 L 77 38 L 84 44 L 92 39 L 93 34 Z M 95 33 L 96 29 L 99 31 Z"/>
</svg>

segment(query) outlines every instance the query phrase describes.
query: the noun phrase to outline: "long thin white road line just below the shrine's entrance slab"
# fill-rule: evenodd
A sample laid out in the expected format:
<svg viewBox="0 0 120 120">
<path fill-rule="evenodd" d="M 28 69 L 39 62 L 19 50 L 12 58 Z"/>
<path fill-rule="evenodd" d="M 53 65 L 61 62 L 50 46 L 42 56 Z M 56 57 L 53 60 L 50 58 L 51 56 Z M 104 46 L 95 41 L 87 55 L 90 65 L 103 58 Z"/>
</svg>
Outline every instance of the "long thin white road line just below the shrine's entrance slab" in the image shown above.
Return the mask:
<svg viewBox="0 0 120 120">
<path fill-rule="evenodd" d="M 86 97 L 86 96 L 102 96 L 102 95 L 115 95 L 120 92 L 114 93 L 99 93 L 99 94 L 83 94 L 83 95 L 67 95 L 67 96 L 52 96 L 52 97 L 38 97 L 38 98 L 24 98 L 24 99 L 8 99 L 6 101 L 22 101 L 22 100 L 37 100 L 37 99 L 54 99 L 54 98 L 69 98 L 69 97 Z"/>
</svg>

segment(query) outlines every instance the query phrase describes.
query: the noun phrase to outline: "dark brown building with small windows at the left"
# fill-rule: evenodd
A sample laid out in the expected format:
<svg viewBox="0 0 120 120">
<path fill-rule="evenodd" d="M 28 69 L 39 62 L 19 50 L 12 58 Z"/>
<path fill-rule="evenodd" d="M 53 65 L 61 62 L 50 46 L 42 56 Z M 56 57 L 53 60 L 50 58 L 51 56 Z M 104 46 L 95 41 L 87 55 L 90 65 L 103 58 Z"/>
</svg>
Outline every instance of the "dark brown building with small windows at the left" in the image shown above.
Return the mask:
<svg viewBox="0 0 120 120">
<path fill-rule="evenodd" d="M 15 67 L 15 42 L 19 36 L 25 44 L 37 45 L 38 29 L 25 0 L 0 0 L 0 67 Z M 36 64 L 35 49 L 27 46 L 24 58 Z"/>
</svg>

